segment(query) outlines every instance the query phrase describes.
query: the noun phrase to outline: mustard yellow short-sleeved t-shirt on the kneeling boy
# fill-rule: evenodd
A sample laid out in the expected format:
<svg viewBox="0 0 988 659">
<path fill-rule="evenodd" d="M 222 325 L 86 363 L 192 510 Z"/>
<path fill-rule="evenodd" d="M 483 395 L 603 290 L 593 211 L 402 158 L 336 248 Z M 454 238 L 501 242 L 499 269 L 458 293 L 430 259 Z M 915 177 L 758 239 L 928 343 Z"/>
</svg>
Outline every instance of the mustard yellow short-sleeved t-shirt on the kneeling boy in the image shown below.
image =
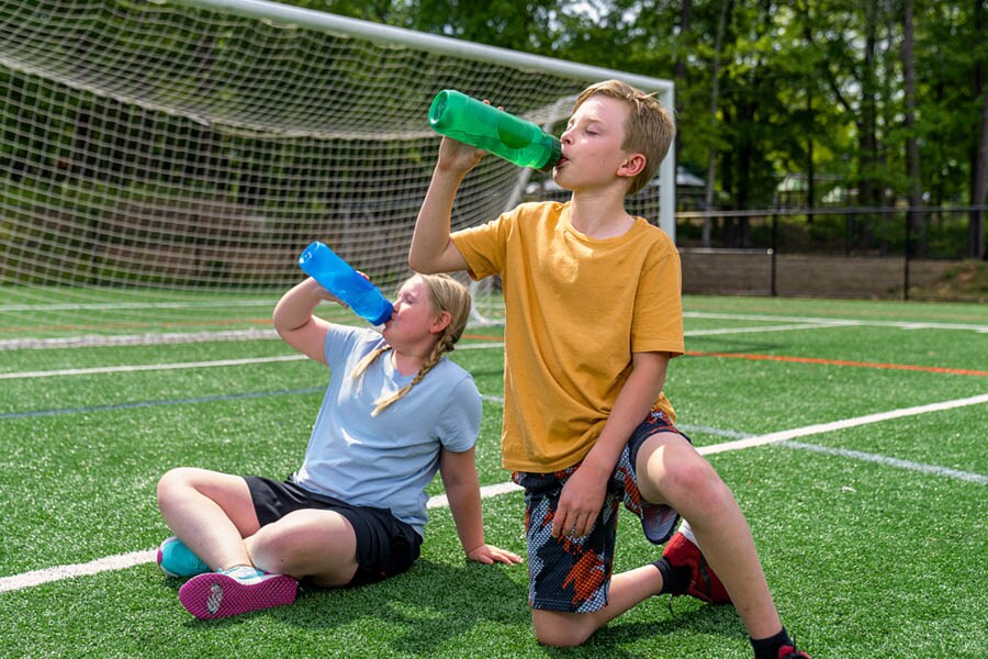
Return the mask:
<svg viewBox="0 0 988 659">
<path fill-rule="evenodd" d="M 548 473 L 583 460 L 631 372 L 631 354 L 683 354 L 680 255 L 641 217 L 595 239 L 569 202 L 521 204 L 453 243 L 470 276 L 499 275 L 507 469 Z M 656 404 L 675 420 L 664 394 Z"/>
</svg>

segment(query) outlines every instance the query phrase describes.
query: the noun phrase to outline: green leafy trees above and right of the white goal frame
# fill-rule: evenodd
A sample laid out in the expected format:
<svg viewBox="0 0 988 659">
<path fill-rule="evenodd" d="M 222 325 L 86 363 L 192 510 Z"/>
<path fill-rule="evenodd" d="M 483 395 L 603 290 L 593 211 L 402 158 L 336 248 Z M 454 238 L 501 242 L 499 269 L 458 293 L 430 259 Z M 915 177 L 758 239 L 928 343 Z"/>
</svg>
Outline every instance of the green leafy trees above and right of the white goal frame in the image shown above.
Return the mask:
<svg viewBox="0 0 988 659">
<path fill-rule="evenodd" d="M 725 5 L 723 2 L 728 4 Z M 775 201 L 791 172 L 838 178 L 864 205 L 905 199 L 919 139 L 925 203 L 977 203 L 970 176 L 988 85 L 984 3 L 914 2 L 917 126 L 903 131 L 900 2 L 799 0 L 296 0 L 296 4 L 591 65 L 674 78 L 680 161 L 732 208 Z M 721 10 L 727 7 L 718 49 Z M 711 115 L 712 70 L 720 87 Z M 678 65 L 678 68 L 677 68 Z M 815 201 L 826 190 L 815 191 Z"/>
</svg>

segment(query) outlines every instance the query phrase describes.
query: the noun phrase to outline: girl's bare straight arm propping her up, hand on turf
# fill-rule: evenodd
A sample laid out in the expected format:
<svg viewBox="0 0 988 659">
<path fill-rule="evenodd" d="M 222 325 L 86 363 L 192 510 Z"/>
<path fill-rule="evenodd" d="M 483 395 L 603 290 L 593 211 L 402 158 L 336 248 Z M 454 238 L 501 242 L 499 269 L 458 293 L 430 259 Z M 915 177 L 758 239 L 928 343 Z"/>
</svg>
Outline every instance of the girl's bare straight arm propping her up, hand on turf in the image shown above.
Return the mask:
<svg viewBox="0 0 988 659">
<path fill-rule="evenodd" d="M 473 448 L 463 453 L 442 449 L 439 455 L 439 473 L 442 476 L 449 510 L 467 558 L 485 565 L 521 562 L 521 557 L 517 554 L 484 543 L 480 482 L 473 461 Z"/>
</svg>

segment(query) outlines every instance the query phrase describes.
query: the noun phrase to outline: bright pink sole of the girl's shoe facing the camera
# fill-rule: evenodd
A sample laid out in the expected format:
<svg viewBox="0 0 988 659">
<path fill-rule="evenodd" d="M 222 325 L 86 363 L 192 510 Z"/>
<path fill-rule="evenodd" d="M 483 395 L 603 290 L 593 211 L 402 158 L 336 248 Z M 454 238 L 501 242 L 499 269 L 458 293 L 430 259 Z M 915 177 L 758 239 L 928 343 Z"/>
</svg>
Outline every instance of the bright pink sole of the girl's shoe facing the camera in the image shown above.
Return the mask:
<svg viewBox="0 0 988 659">
<path fill-rule="evenodd" d="M 205 621 L 291 604 L 297 588 L 297 582 L 287 574 L 245 584 L 215 572 L 187 581 L 179 589 L 179 601 L 189 613 Z"/>
</svg>

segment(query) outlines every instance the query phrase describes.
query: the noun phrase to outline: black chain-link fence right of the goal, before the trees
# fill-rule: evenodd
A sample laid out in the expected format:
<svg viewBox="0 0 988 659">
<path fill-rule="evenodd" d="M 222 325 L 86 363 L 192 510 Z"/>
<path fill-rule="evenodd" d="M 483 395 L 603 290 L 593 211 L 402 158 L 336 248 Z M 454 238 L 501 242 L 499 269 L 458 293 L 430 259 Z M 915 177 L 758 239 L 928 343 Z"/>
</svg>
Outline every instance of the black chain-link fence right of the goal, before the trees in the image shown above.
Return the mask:
<svg viewBox="0 0 988 659">
<path fill-rule="evenodd" d="M 978 214 L 988 206 L 680 212 L 683 290 L 985 300 Z"/>
</svg>

